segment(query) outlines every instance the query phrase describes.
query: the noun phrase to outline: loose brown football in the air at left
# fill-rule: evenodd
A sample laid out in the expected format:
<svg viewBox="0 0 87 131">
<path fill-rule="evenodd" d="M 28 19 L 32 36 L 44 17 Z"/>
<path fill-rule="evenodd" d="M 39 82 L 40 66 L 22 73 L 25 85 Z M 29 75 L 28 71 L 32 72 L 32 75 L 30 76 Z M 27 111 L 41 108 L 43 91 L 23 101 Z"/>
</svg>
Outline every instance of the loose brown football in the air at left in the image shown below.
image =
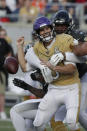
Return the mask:
<svg viewBox="0 0 87 131">
<path fill-rule="evenodd" d="M 16 74 L 19 68 L 18 60 L 15 57 L 7 57 L 4 62 L 4 67 L 10 74 Z"/>
</svg>

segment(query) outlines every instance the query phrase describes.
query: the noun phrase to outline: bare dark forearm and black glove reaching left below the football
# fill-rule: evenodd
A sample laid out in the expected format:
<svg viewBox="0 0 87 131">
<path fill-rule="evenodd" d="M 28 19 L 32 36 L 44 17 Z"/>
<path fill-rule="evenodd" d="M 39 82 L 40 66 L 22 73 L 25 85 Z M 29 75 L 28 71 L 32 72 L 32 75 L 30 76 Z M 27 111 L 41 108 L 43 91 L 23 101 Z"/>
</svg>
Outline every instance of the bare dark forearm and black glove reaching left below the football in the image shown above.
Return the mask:
<svg viewBox="0 0 87 131">
<path fill-rule="evenodd" d="M 24 82 L 23 80 L 14 78 L 13 84 L 17 87 L 24 89 L 24 90 L 29 90 L 31 93 L 33 93 L 37 97 L 42 98 L 45 95 L 45 92 L 43 91 L 43 89 L 34 88 L 31 85 Z"/>
</svg>

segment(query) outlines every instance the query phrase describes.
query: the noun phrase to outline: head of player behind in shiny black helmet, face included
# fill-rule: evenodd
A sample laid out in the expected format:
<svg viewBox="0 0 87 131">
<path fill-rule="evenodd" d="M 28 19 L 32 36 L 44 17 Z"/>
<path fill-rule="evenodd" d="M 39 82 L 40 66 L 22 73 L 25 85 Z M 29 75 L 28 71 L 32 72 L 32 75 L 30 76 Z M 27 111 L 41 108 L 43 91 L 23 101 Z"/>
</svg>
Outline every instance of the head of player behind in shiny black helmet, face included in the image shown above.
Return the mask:
<svg viewBox="0 0 87 131">
<path fill-rule="evenodd" d="M 52 23 L 56 34 L 67 33 L 72 24 L 72 19 L 69 18 L 66 10 L 60 10 L 55 14 Z"/>
</svg>

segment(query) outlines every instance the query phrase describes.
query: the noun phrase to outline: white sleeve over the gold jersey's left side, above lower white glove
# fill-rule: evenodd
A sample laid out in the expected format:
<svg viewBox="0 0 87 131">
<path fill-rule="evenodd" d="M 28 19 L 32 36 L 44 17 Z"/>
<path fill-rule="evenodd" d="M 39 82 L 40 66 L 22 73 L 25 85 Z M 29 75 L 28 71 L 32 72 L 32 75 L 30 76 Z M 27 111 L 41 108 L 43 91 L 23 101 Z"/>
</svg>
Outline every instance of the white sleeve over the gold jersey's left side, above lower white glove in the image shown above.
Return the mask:
<svg viewBox="0 0 87 131">
<path fill-rule="evenodd" d="M 40 68 L 41 61 L 36 56 L 36 54 L 35 54 L 35 52 L 33 50 L 33 47 L 28 49 L 28 51 L 27 51 L 27 53 L 25 55 L 25 59 L 31 66 L 34 66 L 36 68 Z"/>
</svg>

